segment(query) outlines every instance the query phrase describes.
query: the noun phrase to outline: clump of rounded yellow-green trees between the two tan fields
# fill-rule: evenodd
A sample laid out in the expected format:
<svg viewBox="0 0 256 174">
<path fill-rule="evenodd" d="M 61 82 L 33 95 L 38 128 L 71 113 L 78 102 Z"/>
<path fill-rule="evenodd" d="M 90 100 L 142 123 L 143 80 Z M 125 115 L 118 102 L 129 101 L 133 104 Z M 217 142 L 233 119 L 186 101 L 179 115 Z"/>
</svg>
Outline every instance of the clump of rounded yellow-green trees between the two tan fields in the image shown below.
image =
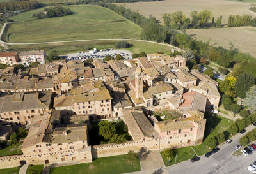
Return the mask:
<svg viewBox="0 0 256 174">
<path fill-rule="evenodd" d="M 217 18 L 212 17 L 211 11 L 202 10 L 199 13 L 192 11 L 190 18 L 186 17 L 182 11 L 176 11 L 174 13 L 164 13 L 162 15 L 164 25 L 172 27 L 172 29 L 189 29 L 189 28 L 203 28 L 203 27 L 221 27 L 222 16 Z M 207 25 L 207 22 L 212 18 L 211 25 Z"/>
</svg>

